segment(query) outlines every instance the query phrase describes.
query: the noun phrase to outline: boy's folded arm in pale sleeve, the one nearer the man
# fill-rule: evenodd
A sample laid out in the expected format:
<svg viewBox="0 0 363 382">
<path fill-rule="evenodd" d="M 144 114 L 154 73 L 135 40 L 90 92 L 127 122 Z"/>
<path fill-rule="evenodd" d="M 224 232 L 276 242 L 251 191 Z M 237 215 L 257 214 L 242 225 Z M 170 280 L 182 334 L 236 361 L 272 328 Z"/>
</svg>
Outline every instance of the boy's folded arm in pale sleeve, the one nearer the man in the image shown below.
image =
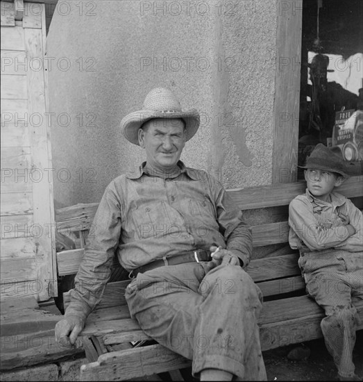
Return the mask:
<svg viewBox="0 0 363 382">
<path fill-rule="evenodd" d="M 311 250 L 337 247 L 349 237 L 345 226 L 321 227 L 314 217 L 310 201 L 304 199 L 295 198 L 289 204 L 289 226 Z"/>
</svg>

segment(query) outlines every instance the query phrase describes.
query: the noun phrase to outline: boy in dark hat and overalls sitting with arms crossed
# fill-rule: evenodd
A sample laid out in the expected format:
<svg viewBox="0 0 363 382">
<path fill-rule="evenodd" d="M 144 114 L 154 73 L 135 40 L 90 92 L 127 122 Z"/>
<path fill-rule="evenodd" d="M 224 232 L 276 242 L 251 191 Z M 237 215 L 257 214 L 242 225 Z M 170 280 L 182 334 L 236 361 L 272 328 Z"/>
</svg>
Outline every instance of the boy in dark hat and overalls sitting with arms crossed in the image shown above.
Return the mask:
<svg viewBox="0 0 363 382">
<path fill-rule="evenodd" d="M 353 364 L 360 318 L 352 298 L 363 299 L 363 215 L 334 191 L 348 174 L 333 150 L 317 144 L 302 167 L 307 190 L 289 205 L 289 244 L 300 251 L 307 293 L 325 310 L 321 331 L 339 380 L 362 381 Z"/>
</svg>

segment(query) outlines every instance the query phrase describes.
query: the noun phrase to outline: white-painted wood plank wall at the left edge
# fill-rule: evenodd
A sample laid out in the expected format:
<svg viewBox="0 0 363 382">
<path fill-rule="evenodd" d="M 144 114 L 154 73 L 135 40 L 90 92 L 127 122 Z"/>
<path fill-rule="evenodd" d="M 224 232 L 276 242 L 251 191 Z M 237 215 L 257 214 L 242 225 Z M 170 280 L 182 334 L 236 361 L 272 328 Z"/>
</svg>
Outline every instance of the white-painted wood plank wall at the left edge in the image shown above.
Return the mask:
<svg viewBox="0 0 363 382">
<path fill-rule="evenodd" d="M 31 66 L 44 63 L 45 13 L 44 4 L 36 13 L 31 6 L 1 2 L 1 301 L 56 295 L 46 78 Z"/>
</svg>

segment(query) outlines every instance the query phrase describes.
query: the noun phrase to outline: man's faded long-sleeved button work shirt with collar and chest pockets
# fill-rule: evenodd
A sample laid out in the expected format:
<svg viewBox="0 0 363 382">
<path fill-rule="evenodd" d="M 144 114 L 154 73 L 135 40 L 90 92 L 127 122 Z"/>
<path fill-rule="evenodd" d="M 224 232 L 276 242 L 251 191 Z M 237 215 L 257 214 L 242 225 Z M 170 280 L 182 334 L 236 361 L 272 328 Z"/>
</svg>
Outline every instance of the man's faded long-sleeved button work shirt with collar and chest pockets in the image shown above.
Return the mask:
<svg viewBox="0 0 363 382">
<path fill-rule="evenodd" d="M 115 178 L 106 188 L 66 316 L 85 320 L 99 303 L 115 254 L 130 271 L 164 256 L 214 244 L 238 251 L 244 266 L 248 265 L 251 229 L 215 178 L 181 161 L 174 178 L 151 174 L 145 165 Z"/>
</svg>

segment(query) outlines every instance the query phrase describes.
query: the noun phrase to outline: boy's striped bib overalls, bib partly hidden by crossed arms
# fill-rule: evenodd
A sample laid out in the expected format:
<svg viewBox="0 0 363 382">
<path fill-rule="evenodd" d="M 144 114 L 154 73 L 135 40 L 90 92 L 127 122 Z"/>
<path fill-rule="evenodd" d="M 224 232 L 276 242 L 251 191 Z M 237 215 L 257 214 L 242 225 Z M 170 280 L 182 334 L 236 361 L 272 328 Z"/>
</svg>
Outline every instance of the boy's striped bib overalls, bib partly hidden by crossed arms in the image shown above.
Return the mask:
<svg viewBox="0 0 363 382">
<path fill-rule="evenodd" d="M 324 213 L 312 201 L 313 213 L 324 228 L 348 224 L 346 204 L 336 213 Z M 301 249 L 298 265 L 305 279 L 307 293 L 326 313 L 321 321 L 326 347 L 339 375 L 353 376 L 352 362 L 355 331 L 359 322 L 352 298 L 363 299 L 363 253 L 339 249 L 310 251 Z"/>
</svg>

